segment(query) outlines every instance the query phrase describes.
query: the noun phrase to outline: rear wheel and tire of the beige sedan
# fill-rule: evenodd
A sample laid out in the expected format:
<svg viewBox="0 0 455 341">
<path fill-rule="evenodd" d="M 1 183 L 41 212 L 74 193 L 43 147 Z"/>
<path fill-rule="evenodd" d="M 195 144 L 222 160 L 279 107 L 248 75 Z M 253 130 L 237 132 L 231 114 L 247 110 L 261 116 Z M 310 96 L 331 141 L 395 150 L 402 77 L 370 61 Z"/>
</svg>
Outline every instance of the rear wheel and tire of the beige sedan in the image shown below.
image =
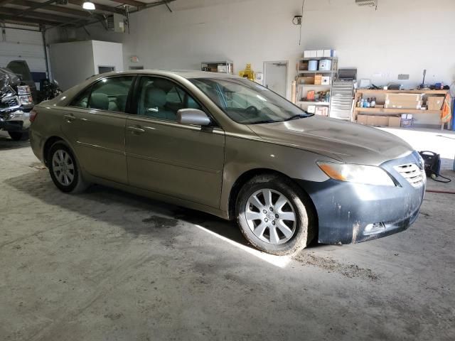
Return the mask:
<svg viewBox="0 0 455 341">
<path fill-rule="evenodd" d="M 82 193 L 88 187 L 80 173 L 73 151 L 63 141 L 53 144 L 47 160 L 50 178 L 65 193 Z"/>
</svg>

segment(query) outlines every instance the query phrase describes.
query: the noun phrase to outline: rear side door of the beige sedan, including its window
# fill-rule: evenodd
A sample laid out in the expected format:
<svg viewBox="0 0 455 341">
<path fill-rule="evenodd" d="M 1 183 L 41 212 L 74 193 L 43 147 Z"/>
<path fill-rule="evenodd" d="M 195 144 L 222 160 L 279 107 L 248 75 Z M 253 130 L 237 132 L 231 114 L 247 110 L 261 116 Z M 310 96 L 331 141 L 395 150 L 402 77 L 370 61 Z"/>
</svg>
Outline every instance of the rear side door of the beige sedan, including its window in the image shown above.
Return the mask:
<svg viewBox="0 0 455 341">
<path fill-rule="evenodd" d="M 99 80 L 65 107 L 62 130 L 82 168 L 99 178 L 127 183 L 125 124 L 134 76 Z"/>
</svg>

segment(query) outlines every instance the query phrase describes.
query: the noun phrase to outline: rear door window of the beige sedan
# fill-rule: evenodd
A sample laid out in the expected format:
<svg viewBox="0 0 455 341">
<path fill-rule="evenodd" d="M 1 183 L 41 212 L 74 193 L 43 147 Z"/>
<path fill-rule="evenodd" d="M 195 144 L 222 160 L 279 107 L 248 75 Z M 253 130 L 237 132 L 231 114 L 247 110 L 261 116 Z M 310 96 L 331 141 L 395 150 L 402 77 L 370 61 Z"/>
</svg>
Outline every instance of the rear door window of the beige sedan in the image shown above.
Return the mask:
<svg viewBox="0 0 455 341">
<path fill-rule="evenodd" d="M 125 112 L 133 77 L 112 77 L 96 82 L 70 104 L 72 107 Z"/>
</svg>

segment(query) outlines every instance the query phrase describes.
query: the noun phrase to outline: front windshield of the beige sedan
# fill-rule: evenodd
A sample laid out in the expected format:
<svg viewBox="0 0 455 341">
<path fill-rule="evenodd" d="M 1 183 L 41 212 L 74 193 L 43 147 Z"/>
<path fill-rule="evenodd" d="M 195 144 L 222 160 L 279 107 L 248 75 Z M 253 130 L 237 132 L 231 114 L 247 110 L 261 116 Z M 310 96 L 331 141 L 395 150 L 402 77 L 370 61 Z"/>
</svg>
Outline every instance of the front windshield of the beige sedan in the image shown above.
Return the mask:
<svg viewBox="0 0 455 341">
<path fill-rule="evenodd" d="M 282 122 L 313 116 L 250 80 L 194 78 L 190 81 L 230 119 L 240 124 Z"/>
</svg>

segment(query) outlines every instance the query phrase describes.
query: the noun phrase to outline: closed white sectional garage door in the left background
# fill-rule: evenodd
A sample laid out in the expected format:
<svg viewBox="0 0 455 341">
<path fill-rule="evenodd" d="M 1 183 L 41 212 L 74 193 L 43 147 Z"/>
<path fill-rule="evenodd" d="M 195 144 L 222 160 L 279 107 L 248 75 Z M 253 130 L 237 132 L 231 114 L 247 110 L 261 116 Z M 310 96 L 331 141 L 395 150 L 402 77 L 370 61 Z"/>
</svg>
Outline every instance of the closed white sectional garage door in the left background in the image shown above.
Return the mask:
<svg viewBox="0 0 455 341">
<path fill-rule="evenodd" d="M 35 82 L 45 78 L 45 55 L 41 32 L 1 28 L 0 67 L 11 60 L 26 60 Z"/>
</svg>

